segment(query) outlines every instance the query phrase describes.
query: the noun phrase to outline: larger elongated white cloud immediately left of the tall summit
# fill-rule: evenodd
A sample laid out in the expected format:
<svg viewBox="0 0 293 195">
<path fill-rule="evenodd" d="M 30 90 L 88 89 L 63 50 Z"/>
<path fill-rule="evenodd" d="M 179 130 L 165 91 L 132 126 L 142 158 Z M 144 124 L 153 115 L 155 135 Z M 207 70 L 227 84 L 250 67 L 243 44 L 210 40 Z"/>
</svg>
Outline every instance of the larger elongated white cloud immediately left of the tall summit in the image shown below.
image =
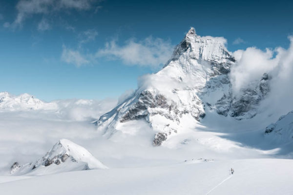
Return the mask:
<svg viewBox="0 0 293 195">
<path fill-rule="evenodd" d="M 122 46 L 115 40 L 107 42 L 104 49 L 96 53 L 96 57 L 120 59 L 127 65 L 158 67 L 167 62 L 173 51 L 170 41 L 148 37 L 142 41 L 129 39 Z"/>
</svg>

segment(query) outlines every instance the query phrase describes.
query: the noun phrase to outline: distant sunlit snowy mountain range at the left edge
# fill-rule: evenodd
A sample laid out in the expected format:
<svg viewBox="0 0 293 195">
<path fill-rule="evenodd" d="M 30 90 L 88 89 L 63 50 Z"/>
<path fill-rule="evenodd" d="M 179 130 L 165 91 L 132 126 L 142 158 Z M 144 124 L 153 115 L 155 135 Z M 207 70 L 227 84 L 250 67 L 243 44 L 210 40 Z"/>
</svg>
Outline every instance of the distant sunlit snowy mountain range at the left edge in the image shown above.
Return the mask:
<svg viewBox="0 0 293 195">
<path fill-rule="evenodd" d="M 54 110 L 57 108 L 56 103 L 46 103 L 29 94 L 13 96 L 8 92 L 0 92 L 0 110 Z"/>
</svg>

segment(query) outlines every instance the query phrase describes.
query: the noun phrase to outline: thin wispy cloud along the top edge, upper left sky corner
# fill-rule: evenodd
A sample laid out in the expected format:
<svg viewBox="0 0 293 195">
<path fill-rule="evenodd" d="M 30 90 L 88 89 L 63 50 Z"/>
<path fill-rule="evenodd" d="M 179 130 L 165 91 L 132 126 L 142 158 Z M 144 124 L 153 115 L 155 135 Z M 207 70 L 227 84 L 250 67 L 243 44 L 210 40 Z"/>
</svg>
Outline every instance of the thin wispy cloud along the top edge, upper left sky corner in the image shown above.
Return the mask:
<svg viewBox="0 0 293 195">
<path fill-rule="evenodd" d="M 97 0 L 20 0 L 16 5 L 16 19 L 4 27 L 21 27 L 26 18 L 35 14 L 49 14 L 63 9 L 88 10 L 95 1 Z"/>
</svg>

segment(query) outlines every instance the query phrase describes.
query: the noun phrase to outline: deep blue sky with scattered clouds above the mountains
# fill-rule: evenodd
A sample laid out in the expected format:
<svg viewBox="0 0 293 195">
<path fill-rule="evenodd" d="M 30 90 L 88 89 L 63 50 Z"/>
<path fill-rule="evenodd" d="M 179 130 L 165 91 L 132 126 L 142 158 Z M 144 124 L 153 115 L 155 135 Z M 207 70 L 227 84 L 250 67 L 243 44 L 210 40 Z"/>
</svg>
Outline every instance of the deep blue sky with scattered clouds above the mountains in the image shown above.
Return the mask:
<svg viewBox="0 0 293 195">
<path fill-rule="evenodd" d="M 0 91 L 117 98 L 167 61 L 192 26 L 228 50 L 288 48 L 292 1 L 0 1 Z"/>
</svg>

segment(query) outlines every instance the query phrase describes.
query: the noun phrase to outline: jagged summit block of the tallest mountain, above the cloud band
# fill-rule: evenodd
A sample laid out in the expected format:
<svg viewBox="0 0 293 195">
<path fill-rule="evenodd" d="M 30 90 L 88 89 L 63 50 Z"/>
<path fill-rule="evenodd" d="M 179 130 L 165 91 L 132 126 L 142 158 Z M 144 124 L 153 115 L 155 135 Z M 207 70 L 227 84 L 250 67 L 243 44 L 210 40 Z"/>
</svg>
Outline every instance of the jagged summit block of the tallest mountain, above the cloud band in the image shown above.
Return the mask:
<svg viewBox="0 0 293 195">
<path fill-rule="evenodd" d="M 225 47 L 222 37 L 201 37 L 190 28 L 184 39 L 175 47 L 171 59 L 165 65 L 180 64 L 186 73 L 202 71 L 210 76 L 228 74 L 234 57 Z M 206 71 L 206 69 L 208 71 Z"/>
</svg>

